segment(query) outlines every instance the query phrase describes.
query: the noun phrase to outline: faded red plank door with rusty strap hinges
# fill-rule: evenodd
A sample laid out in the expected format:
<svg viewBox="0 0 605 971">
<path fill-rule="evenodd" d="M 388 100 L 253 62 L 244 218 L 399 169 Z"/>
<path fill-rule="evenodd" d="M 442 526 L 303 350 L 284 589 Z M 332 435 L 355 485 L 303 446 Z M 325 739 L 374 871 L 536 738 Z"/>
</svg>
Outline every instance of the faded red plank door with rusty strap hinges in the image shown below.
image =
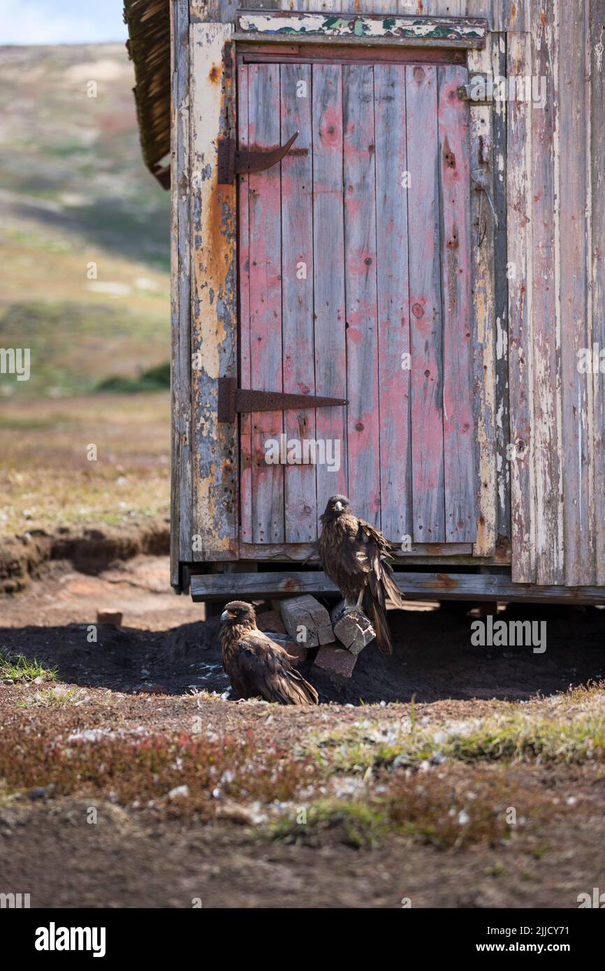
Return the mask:
<svg viewBox="0 0 605 971">
<path fill-rule="evenodd" d="M 449 64 L 238 68 L 240 381 L 347 398 L 244 415 L 241 540 L 308 543 L 334 492 L 393 543 L 476 539 L 468 105 Z"/>
</svg>

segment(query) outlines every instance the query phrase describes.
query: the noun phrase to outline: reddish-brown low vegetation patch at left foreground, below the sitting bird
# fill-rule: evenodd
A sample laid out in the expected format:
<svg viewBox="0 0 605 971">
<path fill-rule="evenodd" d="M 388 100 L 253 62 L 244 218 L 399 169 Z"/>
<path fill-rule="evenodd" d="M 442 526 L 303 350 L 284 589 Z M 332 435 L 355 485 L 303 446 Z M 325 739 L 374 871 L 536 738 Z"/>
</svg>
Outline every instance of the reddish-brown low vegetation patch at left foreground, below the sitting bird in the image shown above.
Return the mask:
<svg viewBox="0 0 605 971">
<path fill-rule="evenodd" d="M 54 737 L 47 727 L 32 737 L 16 727 L 0 736 L 0 777 L 9 787 L 162 804 L 169 816 L 211 819 L 224 799 L 283 801 L 318 775 L 311 756 L 292 759 L 251 731 L 211 739 L 97 728 Z"/>
</svg>

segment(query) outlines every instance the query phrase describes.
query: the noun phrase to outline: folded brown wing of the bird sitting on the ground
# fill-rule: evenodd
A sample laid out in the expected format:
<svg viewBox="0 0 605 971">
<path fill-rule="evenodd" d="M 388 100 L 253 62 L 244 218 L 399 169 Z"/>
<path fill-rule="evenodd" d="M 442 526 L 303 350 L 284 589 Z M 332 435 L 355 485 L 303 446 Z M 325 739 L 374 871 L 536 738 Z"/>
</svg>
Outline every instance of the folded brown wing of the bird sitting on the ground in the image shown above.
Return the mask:
<svg viewBox="0 0 605 971">
<path fill-rule="evenodd" d="M 246 634 L 239 649 L 234 662 L 252 694 L 282 705 L 318 704 L 316 689 L 292 667 L 284 648 L 261 630 Z"/>
</svg>

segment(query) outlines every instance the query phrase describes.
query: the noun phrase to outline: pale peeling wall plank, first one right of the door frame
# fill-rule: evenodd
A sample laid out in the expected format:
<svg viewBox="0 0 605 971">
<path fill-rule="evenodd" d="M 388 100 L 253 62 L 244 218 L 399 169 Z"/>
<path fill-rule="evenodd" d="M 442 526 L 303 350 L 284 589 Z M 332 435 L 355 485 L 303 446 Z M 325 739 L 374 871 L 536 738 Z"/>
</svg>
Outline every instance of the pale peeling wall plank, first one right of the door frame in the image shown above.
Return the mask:
<svg viewBox="0 0 605 971">
<path fill-rule="evenodd" d="M 535 583 L 535 518 L 533 514 L 533 388 L 531 333 L 531 103 L 524 100 L 518 79 L 531 74 L 531 38 L 508 36 L 509 84 L 516 85 L 508 103 L 508 267 L 509 378 L 511 463 L 511 529 L 514 583 Z"/>
</svg>

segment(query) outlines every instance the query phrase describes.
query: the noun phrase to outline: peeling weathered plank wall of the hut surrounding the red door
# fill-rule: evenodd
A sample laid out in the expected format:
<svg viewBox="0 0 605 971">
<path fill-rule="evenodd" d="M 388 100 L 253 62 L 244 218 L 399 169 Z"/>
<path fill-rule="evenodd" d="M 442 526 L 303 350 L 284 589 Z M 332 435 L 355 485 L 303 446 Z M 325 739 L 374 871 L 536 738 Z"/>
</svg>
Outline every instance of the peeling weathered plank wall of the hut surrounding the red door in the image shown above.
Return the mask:
<svg viewBox="0 0 605 971">
<path fill-rule="evenodd" d="M 509 78 L 534 78 L 538 84 L 545 79 L 542 107 L 518 95 L 493 108 L 471 110 L 471 168 L 481 165 L 481 134 L 482 144 L 487 141 L 488 176 L 498 214 L 497 227 L 489 220 L 485 226 L 492 235 L 489 248 L 495 251 L 495 266 L 486 265 L 481 251 L 472 257 L 475 373 L 482 401 L 478 437 L 480 442 L 482 436 L 495 442 L 493 452 L 483 452 L 483 532 L 475 552 L 488 555 L 498 536 L 508 536 L 515 581 L 605 585 L 605 377 L 583 374 L 577 366 L 580 349 L 593 343 L 599 350 L 605 348 L 605 0 L 190 0 L 188 7 L 187 11 L 186 0 L 173 0 L 175 68 L 180 65 L 174 81 L 173 132 L 179 144 L 173 174 L 179 176 L 179 188 L 173 201 L 173 238 L 176 233 L 179 245 L 173 256 L 179 272 L 173 316 L 177 320 L 181 315 L 180 325 L 173 327 L 178 416 L 173 521 L 180 522 L 173 547 L 173 582 L 178 558 L 196 557 L 189 552 L 193 536 L 202 537 L 198 558 L 237 555 L 236 503 L 225 500 L 225 494 L 232 495 L 229 490 L 237 473 L 233 430 L 221 431 L 212 416 L 204 418 L 195 406 L 202 391 L 215 393 L 218 373 L 231 373 L 235 366 L 236 288 L 229 249 L 235 203 L 223 196 L 214 210 L 221 214 L 221 245 L 228 263 L 211 268 L 220 278 L 223 298 L 228 297 L 218 310 L 218 304 L 206 299 L 210 291 L 204 284 L 204 240 L 199 231 L 218 199 L 204 184 L 194 187 L 191 216 L 198 229 L 191 237 L 187 264 L 187 166 L 191 174 L 198 173 L 208 161 L 212 168 L 216 158 L 206 115 L 202 127 L 194 117 L 193 106 L 197 104 L 201 113 L 205 95 L 192 85 L 190 102 L 187 96 L 186 72 L 194 55 L 183 54 L 190 43 L 188 24 L 186 30 L 183 24 L 188 15 L 193 33 L 207 29 L 202 21 L 222 22 L 228 30 L 238 10 L 282 9 L 487 17 L 491 64 L 482 51 L 473 51 L 471 66 L 487 72 L 491 68 L 493 74 L 506 72 Z M 228 79 L 225 82 L 223 70 L 221 65 L 223 101 L 219 99 L 214 110 L 224 125 Z M 206 91 L 200 75 L 202 84 Z M 480 195 L 473 201 L 476 218 Z M 482 205 L 485 216 L 485 197 Z M 476 229 L 473 224 L 473 233 Z M 185 310 L 189 286 L 190 349 Z M 201 378 L 193 374 L 191 385 L 188 355 L 207 339 L 210 371 Z M 493 380 L 486 378 L 491 373 Z M 210 459 L 205 444 L 209 436 Z"/>
</svg>

